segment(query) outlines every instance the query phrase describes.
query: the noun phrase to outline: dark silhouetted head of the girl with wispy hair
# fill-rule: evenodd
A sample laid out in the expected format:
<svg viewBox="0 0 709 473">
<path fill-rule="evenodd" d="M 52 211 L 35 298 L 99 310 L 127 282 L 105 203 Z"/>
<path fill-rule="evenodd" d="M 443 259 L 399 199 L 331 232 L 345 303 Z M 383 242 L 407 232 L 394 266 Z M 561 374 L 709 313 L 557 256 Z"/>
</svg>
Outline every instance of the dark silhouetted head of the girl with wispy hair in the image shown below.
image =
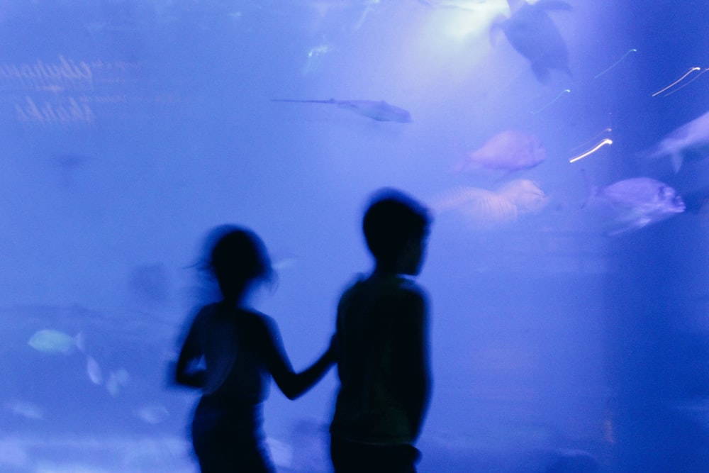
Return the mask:
<svg viewBox="0 0 709 473">
<path fill-rule="evenodd" d="M 238 300 L 254 282 L 273 276 L 271 260 L 261 239 L 246 228 L 220 226 L 208 238 L 206 267 L 225 299 Z"/>
</svg>

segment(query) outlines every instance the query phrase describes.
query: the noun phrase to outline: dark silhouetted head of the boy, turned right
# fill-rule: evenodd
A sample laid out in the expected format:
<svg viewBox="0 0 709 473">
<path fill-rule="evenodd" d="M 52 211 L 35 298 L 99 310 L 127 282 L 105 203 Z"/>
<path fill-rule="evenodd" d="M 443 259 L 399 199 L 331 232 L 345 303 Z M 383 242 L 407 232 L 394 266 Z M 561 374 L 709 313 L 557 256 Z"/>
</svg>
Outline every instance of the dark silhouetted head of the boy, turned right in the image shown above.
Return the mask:
<svg viewBox="0 0 709 473">
<path fill-rule="evenodd" d="M 428 210 L 394 189 L 377 192 L 362 221 L 377 266 L 403 274 L 418 273 L 429 226 Z"/>
</svg>

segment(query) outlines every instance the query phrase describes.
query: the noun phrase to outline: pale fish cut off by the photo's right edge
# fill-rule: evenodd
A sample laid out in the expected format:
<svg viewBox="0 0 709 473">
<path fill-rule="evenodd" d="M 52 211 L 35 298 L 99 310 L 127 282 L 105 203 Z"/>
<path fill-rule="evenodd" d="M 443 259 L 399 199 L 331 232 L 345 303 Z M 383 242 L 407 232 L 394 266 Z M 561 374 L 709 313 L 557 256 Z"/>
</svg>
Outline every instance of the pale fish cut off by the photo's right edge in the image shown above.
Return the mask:
<svg viewBox="0 0 709 473">
<path fill-rule="evenodd" d="M 709 156 L 709 112 L 676 128 L 647 154 L 658 158 L 669 156 L 675 172 L 679 172 L 686 156 Z"/>
</svg>

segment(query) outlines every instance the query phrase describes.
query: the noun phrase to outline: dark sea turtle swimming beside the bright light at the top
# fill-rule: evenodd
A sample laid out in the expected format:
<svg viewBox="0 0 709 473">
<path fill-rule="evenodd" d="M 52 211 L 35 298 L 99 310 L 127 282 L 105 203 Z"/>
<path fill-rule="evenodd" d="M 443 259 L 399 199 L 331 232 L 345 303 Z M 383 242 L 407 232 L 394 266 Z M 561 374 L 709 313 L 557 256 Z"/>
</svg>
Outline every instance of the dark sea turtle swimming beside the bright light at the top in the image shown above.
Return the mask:
<svg viewBox="0 0 709 473">
<path fill-rule="evenodd" d="M 528 4 L 525 0 L 508 0 L 510 17 L 497 16 L 490 28 L 491 40 L 497 30 L 505 33 L 507 40 L 517 52 L 532 63 L 532 72 L 539 82 L 549 80 L 549 69 L 571 74 L 569 50 L 557 26 L 547 12 L 570 10 L 562 0 L 539 0 Z"/>
</svg>

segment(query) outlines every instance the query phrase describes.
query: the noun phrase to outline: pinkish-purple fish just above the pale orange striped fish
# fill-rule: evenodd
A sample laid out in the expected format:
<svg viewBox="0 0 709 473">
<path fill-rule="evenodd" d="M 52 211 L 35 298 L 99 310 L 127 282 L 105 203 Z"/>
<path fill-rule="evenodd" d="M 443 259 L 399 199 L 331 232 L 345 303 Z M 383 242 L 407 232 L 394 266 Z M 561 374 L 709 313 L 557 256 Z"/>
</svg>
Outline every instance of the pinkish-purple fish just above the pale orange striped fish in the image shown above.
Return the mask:
<svg viewBox="0 0 709 473">
<path fill-rule="evenodd" d="M 478 150 L 470 152 L 457 171 L 487 169 L 515 172 L 539 165 L 547 157 L 542 142 L 532 133 L 505 130 L 486 141 Z"/>
</svg>

